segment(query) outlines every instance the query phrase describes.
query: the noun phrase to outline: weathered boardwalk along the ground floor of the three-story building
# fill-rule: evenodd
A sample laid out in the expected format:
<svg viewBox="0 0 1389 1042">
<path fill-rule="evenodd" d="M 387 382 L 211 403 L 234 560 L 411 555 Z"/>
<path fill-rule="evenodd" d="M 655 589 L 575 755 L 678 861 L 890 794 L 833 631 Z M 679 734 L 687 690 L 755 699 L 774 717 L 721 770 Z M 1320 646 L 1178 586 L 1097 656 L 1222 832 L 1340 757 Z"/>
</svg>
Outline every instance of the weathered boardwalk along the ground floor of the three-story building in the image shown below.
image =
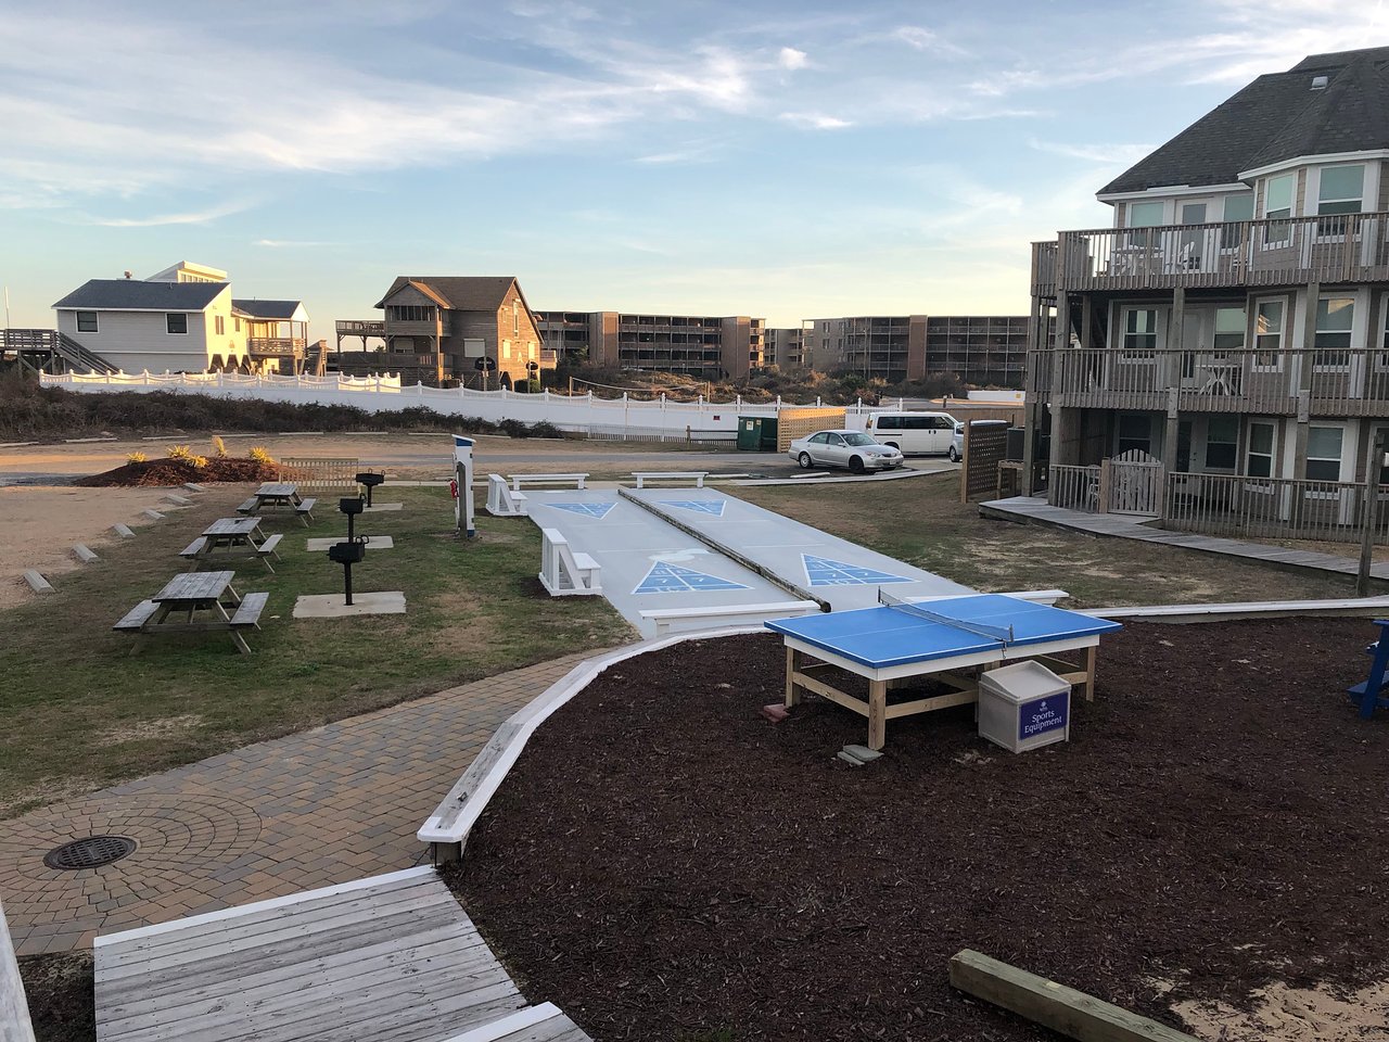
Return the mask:
<svg viewBox="0 0 1389 1042">
<path fill-rule="evenodd" d="M 1165 543 L 1167 546 L 1179 546 L 1185 550 L 1243 557 L 1281 568 L 1308 568 L 1336 575 L 1356 575 L 1360 570 L 1360 561 L 1354 557 L 1336 557 L 1335 554 L 1313 553 L 1310 550 L 1290 550 L 1268 543 L 1246 543 L 1240 539 L 1221 539 L 1213 535 L 1197 535 L 1196 532 L 1170 532 L 1164 528 L 1153 528 L 1150 524 L 1145 524 L 1156 518 L 1125 517 L 1121 514 L 1086 514 L 1081 510 L 1053 507 L 1045 499 L 1035 496 L 1014 496 L 1011 499 L 996 499 L 992 503 L 981 503 L 979 513 L 983 517 L 993 517 L 1001 521 L 1022 521 L 1050 525 L 1053 528 L 1070 528 L 1076 532 L 1089 532 L 1090 535 L 1107 535 L 1115 539 Z M 1347 550 L 1358 553 L 1358 547 L 1356 546 L 1347 545 Z M 1376 579 L 1389 579 L 1389 564 L 1375 564 L 1370 570 L 1370 574 Z"/>
</svg>

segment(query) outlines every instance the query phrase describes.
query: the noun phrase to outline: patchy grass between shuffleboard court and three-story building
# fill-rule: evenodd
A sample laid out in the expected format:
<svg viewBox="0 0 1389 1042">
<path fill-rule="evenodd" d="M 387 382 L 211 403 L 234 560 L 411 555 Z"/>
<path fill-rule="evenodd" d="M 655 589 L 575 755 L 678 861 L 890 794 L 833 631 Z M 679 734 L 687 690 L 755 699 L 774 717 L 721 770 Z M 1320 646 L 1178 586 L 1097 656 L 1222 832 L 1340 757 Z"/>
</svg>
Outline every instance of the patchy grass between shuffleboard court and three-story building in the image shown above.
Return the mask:
<svg viewBox="0 0 1389 1042">
<path fill-rule="evenodd" d="M 990 521 L 958 474 L 856 485 L 735 489 L 758 506 L 982 590 L 1070 590 L 1071 607 L 1349 597 L 1354 578 L 1196 550 Z"/>
</svg>

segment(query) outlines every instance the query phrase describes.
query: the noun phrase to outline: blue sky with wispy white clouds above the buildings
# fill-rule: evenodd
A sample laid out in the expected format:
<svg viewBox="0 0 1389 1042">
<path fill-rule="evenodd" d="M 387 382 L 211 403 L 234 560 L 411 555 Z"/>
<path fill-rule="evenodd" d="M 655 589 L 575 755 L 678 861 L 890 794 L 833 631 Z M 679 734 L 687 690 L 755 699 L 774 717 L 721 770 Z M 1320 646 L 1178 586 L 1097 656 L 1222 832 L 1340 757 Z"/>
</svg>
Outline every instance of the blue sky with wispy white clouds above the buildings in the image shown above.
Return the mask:
<svg viewBox="0 0 1389 1042">
<path fill-rule="evenodd" d="M 303 299 L 397 274 L 532 307 L 1024 314 L 1028 243 L 1375 0 L 0 6 L 14 325 L 176 260 Z"/>
</svg>

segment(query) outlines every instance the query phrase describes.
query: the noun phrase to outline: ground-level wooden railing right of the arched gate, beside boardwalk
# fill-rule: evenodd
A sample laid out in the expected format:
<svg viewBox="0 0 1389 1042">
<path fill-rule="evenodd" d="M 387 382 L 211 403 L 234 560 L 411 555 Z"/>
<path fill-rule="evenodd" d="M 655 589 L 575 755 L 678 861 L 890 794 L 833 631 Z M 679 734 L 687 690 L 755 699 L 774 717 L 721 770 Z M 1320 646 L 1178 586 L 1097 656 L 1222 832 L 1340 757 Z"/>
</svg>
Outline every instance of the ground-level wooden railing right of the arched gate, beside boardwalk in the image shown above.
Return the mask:
<svg viewBox="0 0 1389 1042">
<path fill-rule="evenodd" d="M 1054 468 L 1053 468 L 1054 470 Z M 1389 485 L 1376 485 L 1375 542 L 1389 542 Z M 1365 486 L 1221 474 L 1168 474 L 1163 528 L 1253 539 L 1358 542 Z"/>
</svg>

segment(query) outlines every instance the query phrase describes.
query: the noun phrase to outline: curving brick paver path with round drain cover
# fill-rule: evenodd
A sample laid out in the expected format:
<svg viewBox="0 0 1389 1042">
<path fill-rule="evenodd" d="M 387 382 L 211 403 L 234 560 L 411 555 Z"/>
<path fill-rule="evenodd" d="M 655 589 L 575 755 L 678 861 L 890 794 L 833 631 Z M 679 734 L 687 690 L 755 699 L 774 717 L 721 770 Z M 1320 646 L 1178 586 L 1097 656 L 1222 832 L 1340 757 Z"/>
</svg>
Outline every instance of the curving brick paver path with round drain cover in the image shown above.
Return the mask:
<svg viewBox="0 0 1389 1042">
<path fill-rule="evenodd" d="M 238 749 L 0 822 L 0 903 L 19 954 L 96 934 L 408 868 L 415 831 L 492 732 L 583 659 L 531 665 Z M 82 836 L 139 843 L 115 864 L 49 868 Z"/>
</svg>

